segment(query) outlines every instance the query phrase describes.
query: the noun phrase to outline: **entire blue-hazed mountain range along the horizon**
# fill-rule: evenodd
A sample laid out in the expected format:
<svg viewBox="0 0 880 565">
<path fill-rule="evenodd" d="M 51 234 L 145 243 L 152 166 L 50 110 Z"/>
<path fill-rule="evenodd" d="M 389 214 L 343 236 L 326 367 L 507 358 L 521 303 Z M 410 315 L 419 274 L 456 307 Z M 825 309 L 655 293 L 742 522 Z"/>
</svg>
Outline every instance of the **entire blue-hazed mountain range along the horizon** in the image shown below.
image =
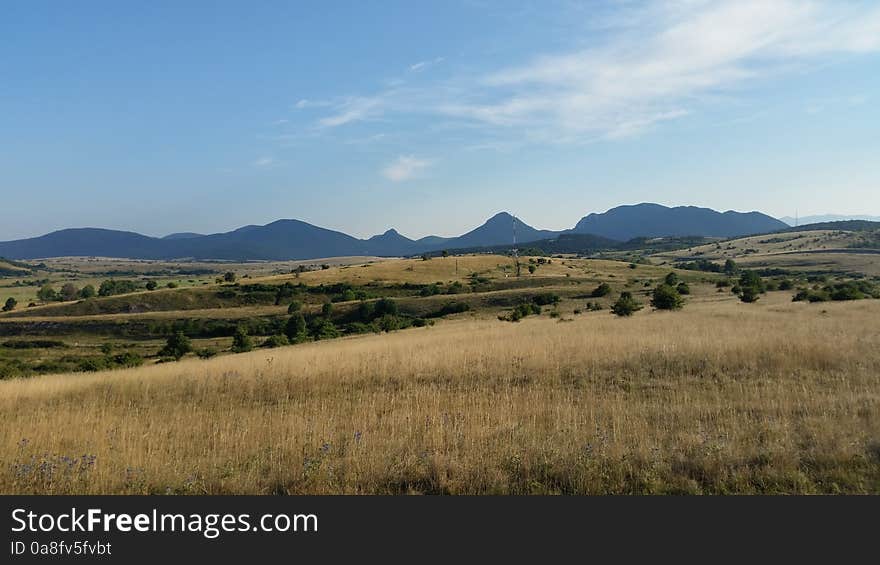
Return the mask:
<svg viewBox="0 0 880 565">
<path fill-rule="evenodd" d="M 500 212 L 457 237 L 409 239 L 394 229 L 369 239 L 321 228 L 300 220 L 202 235 L 182 232 L 163 238 L 99 228 L 73 228 L 40 237 L 0 242 L 0 257 L 39 259 L 65 256 L 131 259 L 292 260 L 349 255 L 401 256 L 441 249 L 474 249 L 580 234 L 607 240 L 636 237 L 735 237 L 785 229 L 785 223 L 760 212 L 717 212 L 694 206 L 636 204 L 583 217 L 572 229 L 539 230 Z"/>
</svg>

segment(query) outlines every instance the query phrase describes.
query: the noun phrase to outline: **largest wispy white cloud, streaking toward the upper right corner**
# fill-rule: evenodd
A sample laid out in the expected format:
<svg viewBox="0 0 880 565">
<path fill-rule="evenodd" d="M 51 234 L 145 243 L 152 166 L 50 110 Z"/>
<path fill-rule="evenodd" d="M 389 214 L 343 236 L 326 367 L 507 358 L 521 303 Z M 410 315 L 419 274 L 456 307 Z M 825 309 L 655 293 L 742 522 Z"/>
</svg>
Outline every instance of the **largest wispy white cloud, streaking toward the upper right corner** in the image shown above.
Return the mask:
<svg viewBox="0 0 880 565">
<path fill-rule="evenodd" d="M 880 6 L 868 2 L 677 0 L 621 14 L 589 48 L 347 98 L 319 125 L 430 114 L 532 140 L 617 139 L 756 81 L 880 51 Z"/>
</svg>

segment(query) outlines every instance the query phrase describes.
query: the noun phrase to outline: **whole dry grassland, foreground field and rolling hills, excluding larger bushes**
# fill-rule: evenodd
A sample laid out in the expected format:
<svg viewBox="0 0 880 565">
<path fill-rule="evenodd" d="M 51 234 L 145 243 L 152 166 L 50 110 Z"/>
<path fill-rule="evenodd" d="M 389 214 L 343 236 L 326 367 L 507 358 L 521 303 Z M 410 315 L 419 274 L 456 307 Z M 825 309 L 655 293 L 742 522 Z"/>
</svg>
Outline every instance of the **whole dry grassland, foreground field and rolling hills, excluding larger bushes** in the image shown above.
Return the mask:
<svg viewBox="0 0 880 565">
<path fill-rule="evenodd" d="M 647 307 L 669 262 L 792 241 L 523 257 L 519 277 L 502 255 L 247 264 L 235 282 L 217 281 L 229 264 L 34 265 L 141 286 L 0 314 L 0 492 L 880 493 L 880 300 L 792 301 L 875 284 L 864 271 L 792 268 L 745 304 L 738 275 L 675 269 L 684 309 Z M 184 271 L 204 275 L 143 289 Z M 646 306 L 631 318 L 609 313 L 624 291 Z M 307 332 L 262 348 L 291 302 Z M 232 354 L 241 330 L 255 350 Z M 193 345 L 177 362 L 175 332 Z"/>
</svg>

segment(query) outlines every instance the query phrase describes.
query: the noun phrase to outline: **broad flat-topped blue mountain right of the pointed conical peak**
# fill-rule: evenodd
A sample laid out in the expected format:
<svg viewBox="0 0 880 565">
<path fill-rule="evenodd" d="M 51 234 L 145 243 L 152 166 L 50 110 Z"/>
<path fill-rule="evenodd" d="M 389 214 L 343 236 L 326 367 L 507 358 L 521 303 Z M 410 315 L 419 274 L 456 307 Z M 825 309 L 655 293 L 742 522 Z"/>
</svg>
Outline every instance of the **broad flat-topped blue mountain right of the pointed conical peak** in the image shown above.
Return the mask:
<svg viewBox="0 0 880 565">
<path fill-rule="evenodd" d="M 627 241 L 635 237 L 735 237 L 768 233 L 788 226 L 760 212 L 716 212 L 696 206 L 669 208 L 660 204 L 618 206 L 581 218 L 574 233 L 591 233 Z"/>
</svg>

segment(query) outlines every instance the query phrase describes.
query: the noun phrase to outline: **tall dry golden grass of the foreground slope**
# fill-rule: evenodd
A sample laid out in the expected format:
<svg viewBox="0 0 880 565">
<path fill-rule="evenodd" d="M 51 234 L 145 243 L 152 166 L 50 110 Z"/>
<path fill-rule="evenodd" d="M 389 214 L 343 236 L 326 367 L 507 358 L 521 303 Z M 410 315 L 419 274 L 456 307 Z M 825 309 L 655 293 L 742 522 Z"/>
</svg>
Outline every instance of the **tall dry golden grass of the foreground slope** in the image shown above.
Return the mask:
<svg viewBox="0 0 880 565">
<path fill-rule="evenodd" d="M 788 300 L 0 382 L 0 492 L 880 492 L 880 301 Z"/>
</svg>

